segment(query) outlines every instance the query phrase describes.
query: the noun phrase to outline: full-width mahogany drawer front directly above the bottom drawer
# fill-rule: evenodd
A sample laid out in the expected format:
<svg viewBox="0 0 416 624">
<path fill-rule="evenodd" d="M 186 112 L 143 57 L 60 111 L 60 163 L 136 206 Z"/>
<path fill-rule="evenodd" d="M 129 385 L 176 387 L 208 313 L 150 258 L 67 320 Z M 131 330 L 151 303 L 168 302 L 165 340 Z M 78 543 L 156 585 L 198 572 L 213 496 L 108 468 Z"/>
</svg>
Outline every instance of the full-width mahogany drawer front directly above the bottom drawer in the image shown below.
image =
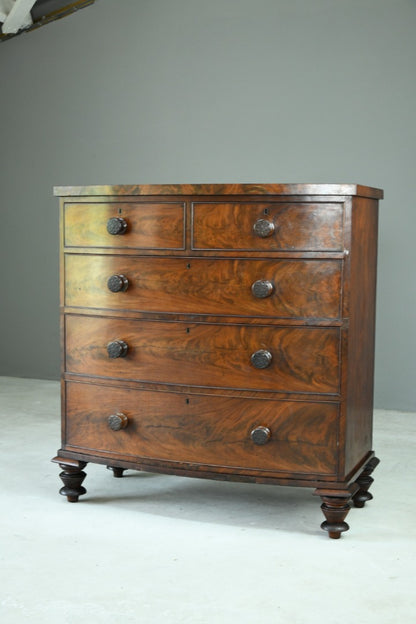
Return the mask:
<svg viewBox="0 0 416 624">
<path fill-rule="evenodd" d="M 66 316 L 66 370 L 117 379 L 338 393 L 339 347 L 339 328 Z"/>
</svg>

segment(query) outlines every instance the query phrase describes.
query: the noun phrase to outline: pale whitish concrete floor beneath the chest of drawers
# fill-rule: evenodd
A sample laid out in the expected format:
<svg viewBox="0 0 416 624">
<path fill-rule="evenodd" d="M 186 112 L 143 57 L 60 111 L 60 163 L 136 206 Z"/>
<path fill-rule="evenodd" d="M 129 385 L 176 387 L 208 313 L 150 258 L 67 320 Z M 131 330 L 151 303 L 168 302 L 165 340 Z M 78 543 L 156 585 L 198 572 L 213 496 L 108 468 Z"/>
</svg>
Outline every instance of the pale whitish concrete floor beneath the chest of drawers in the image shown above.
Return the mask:
<svg viewBox="0 0 416 624">
<path fill-rule="evenodd" d="M 416 414 L 376 411 L 374 500 L 329 540 L 312 490 L 89 464 L 58 495 L 59 385 L 0 378 L 0 621 L 414 622 Z"/>
</svg>

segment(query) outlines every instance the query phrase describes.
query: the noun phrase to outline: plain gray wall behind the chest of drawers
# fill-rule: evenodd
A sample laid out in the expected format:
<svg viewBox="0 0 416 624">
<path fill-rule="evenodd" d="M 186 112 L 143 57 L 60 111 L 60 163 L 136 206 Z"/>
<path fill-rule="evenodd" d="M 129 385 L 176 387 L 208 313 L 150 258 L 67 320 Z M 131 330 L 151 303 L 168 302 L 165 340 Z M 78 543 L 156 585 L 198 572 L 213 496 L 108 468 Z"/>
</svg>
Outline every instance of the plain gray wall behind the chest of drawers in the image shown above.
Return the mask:
<svg viewBox="0 0 416 624">
<path fill-rule="evenodd" d="M 416 410 L 415 33 L 414 0 L 97 0 L 3 43 L 0 374 L 59 374 L 53 185 L 357 182 L 376 405 Z"/>
</svg>

